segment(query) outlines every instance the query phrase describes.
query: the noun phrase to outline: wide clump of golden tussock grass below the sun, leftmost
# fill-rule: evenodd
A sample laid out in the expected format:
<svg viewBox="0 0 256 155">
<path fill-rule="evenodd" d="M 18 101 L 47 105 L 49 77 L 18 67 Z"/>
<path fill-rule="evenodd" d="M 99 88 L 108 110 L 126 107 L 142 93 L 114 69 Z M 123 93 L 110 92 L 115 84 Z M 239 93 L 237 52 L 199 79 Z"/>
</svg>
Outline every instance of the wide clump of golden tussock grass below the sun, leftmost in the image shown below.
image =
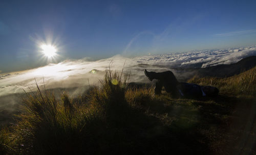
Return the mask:
<svg viewBox="0 0 256 155">
<path fill-rule="evenodd" d="M 37 93 L 27 93 L 21 107 L 24 113 L 13 126 L 15 149 L 20 154 L 68 153 L 74 145 L 79 149 L 80 133 L 91 118 L 74 105 L 65 93 L 60 101 L 39 87 Z"/>
</svg>

